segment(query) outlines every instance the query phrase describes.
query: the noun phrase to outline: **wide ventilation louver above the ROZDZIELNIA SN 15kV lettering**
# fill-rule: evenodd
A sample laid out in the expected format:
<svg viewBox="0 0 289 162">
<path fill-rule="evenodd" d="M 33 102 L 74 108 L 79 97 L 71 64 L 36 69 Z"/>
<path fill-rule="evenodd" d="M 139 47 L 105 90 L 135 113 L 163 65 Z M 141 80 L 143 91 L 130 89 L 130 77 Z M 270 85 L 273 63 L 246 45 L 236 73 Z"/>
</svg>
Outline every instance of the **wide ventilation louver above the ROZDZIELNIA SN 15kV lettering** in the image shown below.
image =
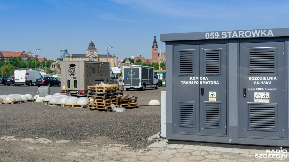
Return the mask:
<svg viewBox="0 0 289 162">
<path fill-rule="evenodd" d="M 249 75 L 276 75 L 276 49 L 249 50 Z"/>
</svg>

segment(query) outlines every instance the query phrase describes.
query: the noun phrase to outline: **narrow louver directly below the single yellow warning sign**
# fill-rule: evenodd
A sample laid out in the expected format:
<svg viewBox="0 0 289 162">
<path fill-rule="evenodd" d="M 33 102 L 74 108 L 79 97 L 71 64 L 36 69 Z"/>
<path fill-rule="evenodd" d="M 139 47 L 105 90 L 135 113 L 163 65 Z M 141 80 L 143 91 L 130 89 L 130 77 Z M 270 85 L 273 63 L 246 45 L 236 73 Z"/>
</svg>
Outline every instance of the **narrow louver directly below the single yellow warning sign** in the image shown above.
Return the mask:
<svg viewBox="0 0 289 162">
<path fill-rule="evenodd" d="M 221 105 L 206 104 L 206 128 L 221 128 Z"/>
</svg>

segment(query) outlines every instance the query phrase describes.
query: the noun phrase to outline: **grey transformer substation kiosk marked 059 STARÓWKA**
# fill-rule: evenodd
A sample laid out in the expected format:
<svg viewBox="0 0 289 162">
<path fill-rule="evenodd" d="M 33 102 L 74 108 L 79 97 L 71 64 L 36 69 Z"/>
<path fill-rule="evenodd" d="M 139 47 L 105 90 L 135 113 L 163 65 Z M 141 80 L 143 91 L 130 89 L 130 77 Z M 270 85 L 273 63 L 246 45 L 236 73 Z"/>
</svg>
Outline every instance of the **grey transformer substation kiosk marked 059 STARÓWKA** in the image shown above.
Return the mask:
<svg viewBox="0 0 289 162">
<path fill-rule="evenodd" d="M 288 147 L 288 39 L 289 28 L 161 34 L 166 139 Z"/>
</svg>

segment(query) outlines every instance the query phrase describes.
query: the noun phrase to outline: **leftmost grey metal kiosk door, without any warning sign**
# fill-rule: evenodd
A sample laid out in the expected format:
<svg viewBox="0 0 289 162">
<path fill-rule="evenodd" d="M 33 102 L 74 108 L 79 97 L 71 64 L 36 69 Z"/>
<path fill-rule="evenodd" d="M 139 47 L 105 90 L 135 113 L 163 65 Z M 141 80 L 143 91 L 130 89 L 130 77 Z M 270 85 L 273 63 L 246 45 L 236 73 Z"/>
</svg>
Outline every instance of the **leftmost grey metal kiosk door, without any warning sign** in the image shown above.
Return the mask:
<svg viewBox="0 0 289 162">
<path fill-rule="evenodd" d="M 174 46 L 173 67 L 174 131 L 199 133 L 199 80 L 194 80 L 199 76 L 199 70 L 195 68 L 199 67 L 199 45 Z M 181 123 L 186 107 L 194 114 L 191 116 L 193 126 Z"/>
</svg>

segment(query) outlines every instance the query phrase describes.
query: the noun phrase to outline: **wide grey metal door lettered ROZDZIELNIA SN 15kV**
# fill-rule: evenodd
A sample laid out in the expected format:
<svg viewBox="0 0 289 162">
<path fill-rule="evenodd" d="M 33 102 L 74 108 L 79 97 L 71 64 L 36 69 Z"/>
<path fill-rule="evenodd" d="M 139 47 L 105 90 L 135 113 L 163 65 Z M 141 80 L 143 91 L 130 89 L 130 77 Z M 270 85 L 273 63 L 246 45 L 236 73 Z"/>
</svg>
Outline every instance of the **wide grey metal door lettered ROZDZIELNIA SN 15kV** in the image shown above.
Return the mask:
<svg viewBox="0 0 289 162">
<path fill-rule="evenodd" d="M 240 135 L 285 138 L 285 42 L 240 43 Z"/>
</svg>

